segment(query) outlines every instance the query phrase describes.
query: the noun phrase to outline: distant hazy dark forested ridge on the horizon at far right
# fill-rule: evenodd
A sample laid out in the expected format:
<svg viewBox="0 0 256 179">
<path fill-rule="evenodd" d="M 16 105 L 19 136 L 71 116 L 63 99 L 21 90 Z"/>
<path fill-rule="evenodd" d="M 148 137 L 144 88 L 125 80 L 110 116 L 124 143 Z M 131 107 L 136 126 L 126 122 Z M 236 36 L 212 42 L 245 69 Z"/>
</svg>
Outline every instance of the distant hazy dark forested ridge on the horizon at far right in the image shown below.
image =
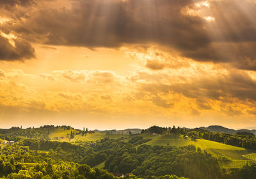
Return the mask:
<svg viewBox="0 0 256 179">
<path fill-rule="evenodd" d="M 199 127 L 199 129 L 203 129 L 205 131 L 209 132 L 220 132 L 220 133 L 228 133 L 228 134 L 236 134 L 237 132 L 251 132 L 253 134 L 256 134 L 256 129 L 248 130 L 248 129 L 228 129 L 226 127 L 223 127 L 221 125 L 210 125 L 209 127 Z"/>
</svg>

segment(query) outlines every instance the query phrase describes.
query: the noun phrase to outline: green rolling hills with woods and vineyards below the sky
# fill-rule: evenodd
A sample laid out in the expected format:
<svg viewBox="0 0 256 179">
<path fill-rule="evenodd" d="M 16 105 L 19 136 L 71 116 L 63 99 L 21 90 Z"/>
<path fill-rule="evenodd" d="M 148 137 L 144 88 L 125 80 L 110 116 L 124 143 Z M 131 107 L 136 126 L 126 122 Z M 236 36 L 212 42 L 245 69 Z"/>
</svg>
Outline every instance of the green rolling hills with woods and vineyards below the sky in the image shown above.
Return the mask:
<svg viewBox="0 0 256 179">
<path fill-rule="evenodd" d="M 256 138 L 158 127 L 100 134 L 44 125 L 0 129 L 0 178 L 251 179 Z M 232 146 L 234 145 L 234 146 Z M 243 148 L 244 147 L 244 148 Z M 251 148 L 251 149 L 246 149 Z M 246 177 L 244 177 L 246 173 Z"/>
</svg>

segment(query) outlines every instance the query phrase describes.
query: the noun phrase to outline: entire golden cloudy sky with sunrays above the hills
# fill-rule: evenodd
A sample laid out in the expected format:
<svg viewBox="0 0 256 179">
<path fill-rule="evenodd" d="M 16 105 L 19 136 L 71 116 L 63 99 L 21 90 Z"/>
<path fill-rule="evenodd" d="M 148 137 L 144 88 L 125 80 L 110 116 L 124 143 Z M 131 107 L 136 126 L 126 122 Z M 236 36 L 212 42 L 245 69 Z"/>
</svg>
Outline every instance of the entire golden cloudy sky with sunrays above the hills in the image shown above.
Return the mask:
<svg viewBox="0 0 256 179">
<path fill-rule="evenodd" d="M 0 0 L 0 122 L 256 125 L 255 0 Z"/>
</svg>

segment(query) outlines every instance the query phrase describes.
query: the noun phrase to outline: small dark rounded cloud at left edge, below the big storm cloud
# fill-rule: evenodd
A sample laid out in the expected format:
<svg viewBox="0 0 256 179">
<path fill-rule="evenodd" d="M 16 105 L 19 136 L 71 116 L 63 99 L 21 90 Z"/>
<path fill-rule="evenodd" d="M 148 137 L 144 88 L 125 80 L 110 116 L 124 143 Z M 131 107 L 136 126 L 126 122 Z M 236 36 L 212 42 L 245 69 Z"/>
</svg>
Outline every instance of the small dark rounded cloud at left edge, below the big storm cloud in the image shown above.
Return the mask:
<svg viewBox="0 0 256 179">
<path fill-rule="evenodd" d="M 13 39 L 13 43 L 15 46 L 0 34 L 0 61 L 15 61 L 35 57 L 35 50 L 28 41 L 16 38 Z"/>
</svg>

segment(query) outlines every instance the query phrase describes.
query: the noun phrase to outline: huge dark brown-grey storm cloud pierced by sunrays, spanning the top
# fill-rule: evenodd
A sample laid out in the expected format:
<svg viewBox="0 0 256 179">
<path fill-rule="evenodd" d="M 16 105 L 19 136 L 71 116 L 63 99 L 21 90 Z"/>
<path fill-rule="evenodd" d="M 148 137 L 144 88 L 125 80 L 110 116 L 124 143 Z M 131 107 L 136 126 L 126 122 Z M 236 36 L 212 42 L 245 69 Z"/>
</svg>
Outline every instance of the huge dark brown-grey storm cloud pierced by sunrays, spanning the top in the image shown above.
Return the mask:
<svg viewBox="0 0 256 179">
<path fill-rule="evenodd" d="M 10 4 L 21 2 L 34 1 Z M 196 61 L 228 62 L 256 70 L 256 4 L 209 1 L 204 15 L 215 20 L 207 22 L 202 15 L 188 13 L 198 10 L 198 2 L 202 0 L 72 0 L 56 8 L 40 6 L 38 1 L 37 10 L 26 21 L 4 28 L 49 45 L 94 48 L 157 43 Z"/>
</svg>

